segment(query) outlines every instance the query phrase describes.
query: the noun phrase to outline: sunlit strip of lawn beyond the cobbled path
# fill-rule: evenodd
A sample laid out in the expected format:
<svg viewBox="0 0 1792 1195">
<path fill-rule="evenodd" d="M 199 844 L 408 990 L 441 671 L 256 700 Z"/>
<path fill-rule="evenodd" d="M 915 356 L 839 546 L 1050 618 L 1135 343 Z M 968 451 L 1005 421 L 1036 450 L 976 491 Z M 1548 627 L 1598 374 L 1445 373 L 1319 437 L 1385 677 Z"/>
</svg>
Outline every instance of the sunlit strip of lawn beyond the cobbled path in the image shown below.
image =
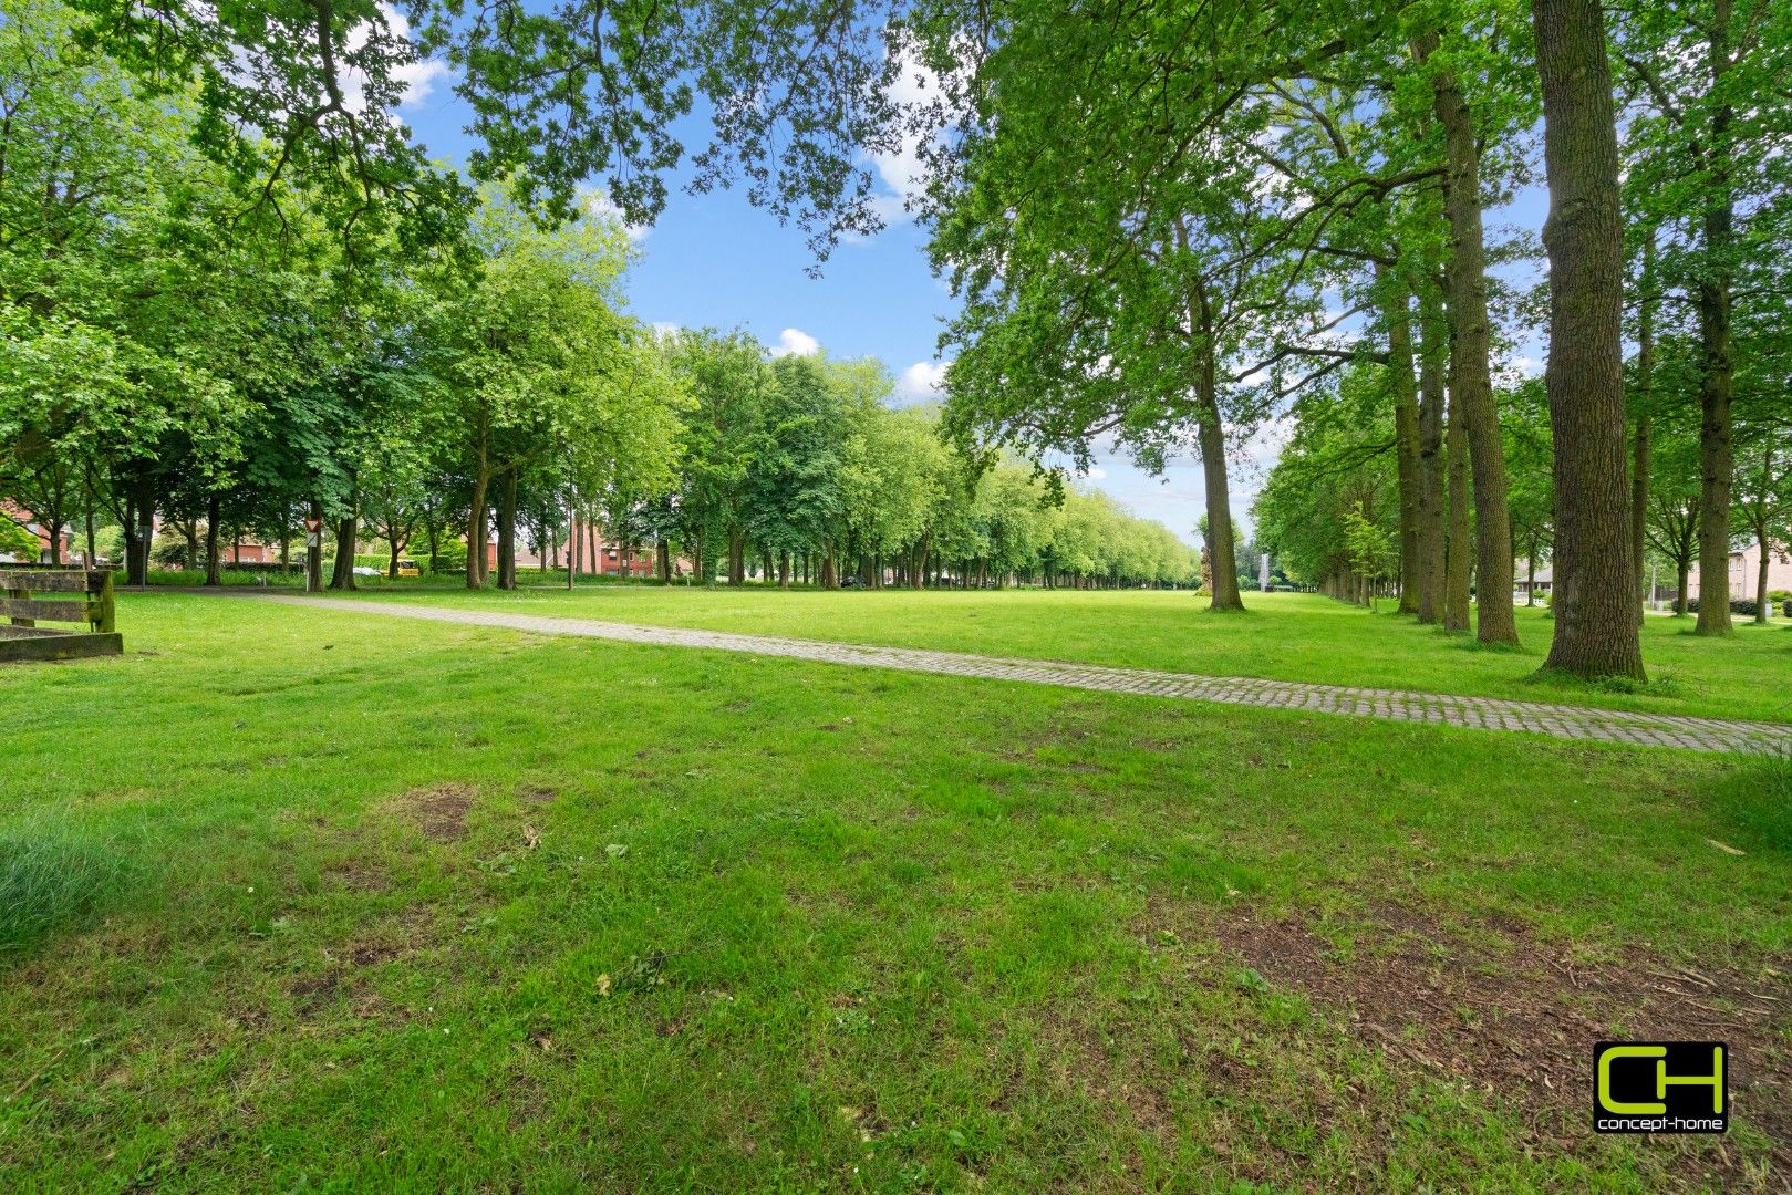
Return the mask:
<svg viewBox="0 0 1792 1195">
<path fill-rule="evenodd" d="M 525 577 L 529 580 L 529 577 Z M 373 589 L 366 597 L 478 604 L 566 615 L 708 627 L 753 634 L 937 647 L 944 650 L 1167 668 L 1208 675 L 1319 681 L 1546 701 L 1649 713 L 1792 722 L 1792 622 L 1756 627 L 1738 618 L 1733 640 L 1692 634 L 1692 618 L 1643 623 L 1650 686 L 1641 693 L 1539 683 L 1550 622 L 1518 609 L 1521 650 L 1484 650 L 1392 613 L 1308 593 L 1247 593 L 1244 615 L 1210 615 L 1192 593 L 1131 589 L 787 591 L 683 586 L 539 586 L 514 593 L 452 588 Z M 1382 609 L 1391 611 L 1383 602 Z"/>
</svg>

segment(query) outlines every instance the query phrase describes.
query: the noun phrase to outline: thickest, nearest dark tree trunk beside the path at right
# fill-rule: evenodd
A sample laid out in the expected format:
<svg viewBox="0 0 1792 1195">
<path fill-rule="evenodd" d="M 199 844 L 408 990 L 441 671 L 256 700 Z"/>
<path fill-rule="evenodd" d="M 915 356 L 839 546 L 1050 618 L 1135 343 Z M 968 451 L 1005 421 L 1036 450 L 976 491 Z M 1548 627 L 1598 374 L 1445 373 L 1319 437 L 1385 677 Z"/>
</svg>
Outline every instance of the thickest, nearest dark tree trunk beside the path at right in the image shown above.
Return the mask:
<svg viewBox="0 0 1792 1195">
<path fill-rule="evenodd" d="M 1550 213 L 1555 634 L 1545 668 L 1643 679 L 1624 417 L 1618 131 L 1598 0 L 1532 0 Z M 1486 588 L 1482 588 L 1486 604 Z"/>
</svg>

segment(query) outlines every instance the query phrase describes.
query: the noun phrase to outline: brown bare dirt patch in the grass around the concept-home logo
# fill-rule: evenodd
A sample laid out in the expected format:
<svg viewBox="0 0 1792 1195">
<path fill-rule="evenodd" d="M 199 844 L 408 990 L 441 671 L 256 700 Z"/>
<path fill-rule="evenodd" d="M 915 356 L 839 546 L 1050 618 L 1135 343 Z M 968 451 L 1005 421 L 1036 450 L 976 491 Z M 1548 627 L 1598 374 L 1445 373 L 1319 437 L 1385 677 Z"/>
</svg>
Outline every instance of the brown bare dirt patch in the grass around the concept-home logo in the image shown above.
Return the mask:
<svg viewBox="0 0 1792 1195">
<path fill-rule="evenodd" d="M 1154 921 L 1156 924 L 1156 921 Z M 1618 962 L 1575 960 L 1564 948 L 1502 923 L 1509 946 L 1471 944 L 1435 921 L 1380 907 L 1351 957 L 1301 921 L 1251 910 L 1206 932 L 1274 987 L 1292 987 L 1339 1016 L 1353 1037 L 1407 1068 L 1516 1105 L 1534 1131 L 1591 1136 L 1593 1043 L 1724 1041 L 1733 1111 L 1772 1141 L 1792 1170 L 1792 982 L 1788 966 L 1690 967 L 1641 951 Z M 1199 932 L 1199 930 L 1188 930 Z M 1724 1165 L 1719 1148 L 1713 1165 Z"/>
</svg>

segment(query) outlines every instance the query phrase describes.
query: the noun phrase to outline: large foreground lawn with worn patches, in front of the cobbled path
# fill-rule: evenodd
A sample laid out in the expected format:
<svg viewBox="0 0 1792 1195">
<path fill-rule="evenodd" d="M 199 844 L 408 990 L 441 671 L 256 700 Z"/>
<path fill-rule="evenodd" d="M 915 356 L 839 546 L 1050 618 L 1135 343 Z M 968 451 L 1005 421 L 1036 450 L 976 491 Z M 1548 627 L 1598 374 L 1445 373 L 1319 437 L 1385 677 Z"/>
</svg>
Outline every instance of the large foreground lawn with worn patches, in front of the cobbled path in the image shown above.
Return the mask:
<svg viewBox="0 0 1792 1195">
<path fill-rule="evenodd" d="M 674 597 L 715 625 L 568 609 Z M 1068 597 L 1054 640 L 1036 595 L 729 598 L 1208 670 L 1283 616 Z M 1778 761 L 179 595 L 120 625 L 125 658 L 0 670 L 0 1190 L 1792 1166 Z M 1457 672 L 1423 686 L 1503 659 L 1426 645 Z M 1731 1043 L 1727 1138 L 1595 1138 L 1602 1036 Z"/>
</svg>

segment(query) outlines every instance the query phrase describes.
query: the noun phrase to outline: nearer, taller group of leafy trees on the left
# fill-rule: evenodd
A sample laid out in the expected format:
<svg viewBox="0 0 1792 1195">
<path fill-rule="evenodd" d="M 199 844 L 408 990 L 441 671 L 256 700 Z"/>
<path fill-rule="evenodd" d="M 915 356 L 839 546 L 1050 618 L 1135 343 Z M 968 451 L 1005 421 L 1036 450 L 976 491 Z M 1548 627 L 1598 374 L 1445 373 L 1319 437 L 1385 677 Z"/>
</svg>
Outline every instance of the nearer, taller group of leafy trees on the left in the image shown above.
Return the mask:
<svg viewBox="0 0 1792 1195">
<path fill-rule="evenodd" d="M 47 525 L 202 523 L 337 539 L 353 584 L 367 516 L 513 541 L 527 480 L 670 482 L 683 405 L 620 314 L 615 219 L 543 228 L 496 186 L 435 177 L 435 228 L 337 208 L 296 177 L 235 177 L 197 145 L 195 88 L 156 95 L 82 47 L 70 11 L 0 23 L 0 493 Z M 450 202 L 453 199 L 453 202 Z M 77 518 L 79 516 L 79 518 Z M 57 546 L 52 545 L 52 552 Z M 314 582 L 323 559 L 308 546 Z M 484 579 L 484 554 L 468 557 Z"/>
</svg>

